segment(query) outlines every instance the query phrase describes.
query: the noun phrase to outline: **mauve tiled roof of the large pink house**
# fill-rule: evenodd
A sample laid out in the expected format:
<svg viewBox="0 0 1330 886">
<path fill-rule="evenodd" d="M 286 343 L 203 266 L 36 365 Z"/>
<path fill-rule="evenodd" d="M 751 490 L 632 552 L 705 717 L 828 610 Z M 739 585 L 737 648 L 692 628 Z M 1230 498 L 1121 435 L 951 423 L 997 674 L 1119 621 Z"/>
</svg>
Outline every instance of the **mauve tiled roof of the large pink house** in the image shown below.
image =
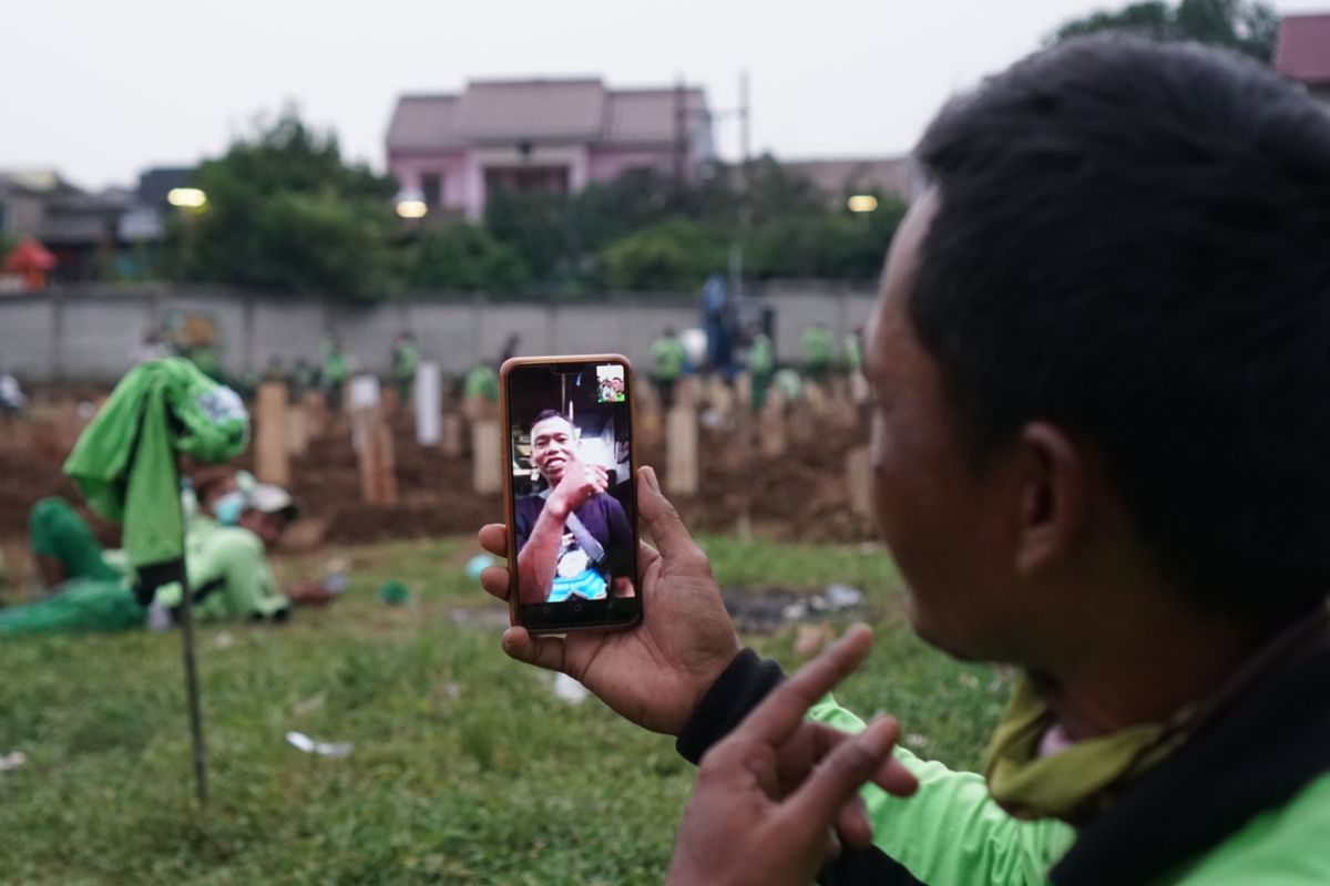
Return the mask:
<svg viewBox="0 0 1330 886">
<path fill-rule="evenodd" d="M 684 90 L 690 130 L 705 126 L 706 97 Z M 390 151 L 521 141 L 669 143 L 674 89 L 610 90 L 600 80 L 473 81 L 460 94 L 402 96 L 388 125 Z"/>
</svg>

